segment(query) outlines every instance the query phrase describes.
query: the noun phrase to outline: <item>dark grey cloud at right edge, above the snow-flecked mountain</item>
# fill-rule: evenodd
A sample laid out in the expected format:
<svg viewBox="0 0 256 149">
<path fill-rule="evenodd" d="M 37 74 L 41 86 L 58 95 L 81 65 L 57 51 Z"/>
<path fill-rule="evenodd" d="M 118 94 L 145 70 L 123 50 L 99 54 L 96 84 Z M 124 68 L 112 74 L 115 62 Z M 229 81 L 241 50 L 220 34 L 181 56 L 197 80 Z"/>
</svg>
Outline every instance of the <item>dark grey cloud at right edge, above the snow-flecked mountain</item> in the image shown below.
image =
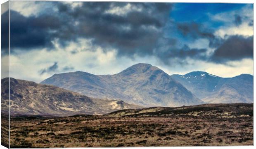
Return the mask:
<svg viewBox="0 0 256 149">
<path fill-rule="evenodd" d="M 230 36 L 211 56 L 211 61 L 224 63 L 230 60 L 253 58 L 253 36 Z"/>
</svg>

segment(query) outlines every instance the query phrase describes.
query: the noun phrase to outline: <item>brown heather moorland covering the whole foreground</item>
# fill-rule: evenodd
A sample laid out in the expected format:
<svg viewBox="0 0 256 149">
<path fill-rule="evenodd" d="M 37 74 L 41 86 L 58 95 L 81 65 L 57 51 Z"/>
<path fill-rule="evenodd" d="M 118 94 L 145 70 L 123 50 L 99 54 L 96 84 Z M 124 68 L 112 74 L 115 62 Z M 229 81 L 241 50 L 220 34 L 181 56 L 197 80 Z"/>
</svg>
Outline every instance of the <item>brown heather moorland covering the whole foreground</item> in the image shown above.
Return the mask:
<svg viewBox="0 0 256 149">
<path fill-rule="evenodd" d="M 13 117 L 10 134 L 13 148 L 253 145 L 253 104 Z"/>
</svg>

